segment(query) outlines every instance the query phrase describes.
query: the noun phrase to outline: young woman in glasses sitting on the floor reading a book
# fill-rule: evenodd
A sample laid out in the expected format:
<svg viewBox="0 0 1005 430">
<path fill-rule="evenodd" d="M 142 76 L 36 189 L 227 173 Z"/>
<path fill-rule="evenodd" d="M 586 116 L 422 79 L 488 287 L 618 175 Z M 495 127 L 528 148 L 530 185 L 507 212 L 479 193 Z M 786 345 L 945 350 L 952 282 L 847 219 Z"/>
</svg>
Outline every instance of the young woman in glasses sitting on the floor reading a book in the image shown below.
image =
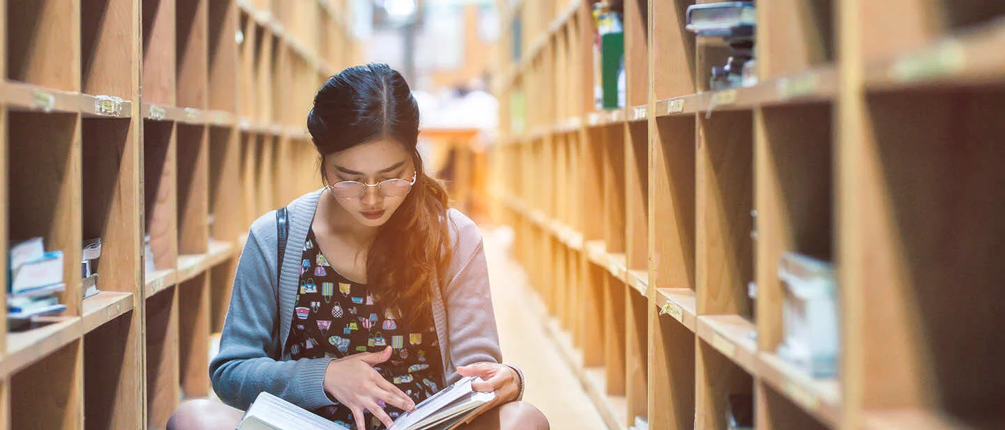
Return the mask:
<svg viewBox="0 0 1005 430">
<path fill-rule="evenodd" d="M 465 430 L 549 428 L 500 364 L 481 236 L 425 175 L 418 126 L 385 64 L 325 83 L 308 117 L 325 188 L 286 207 L 282 255 L 276 213 L 252 224 L 209 369 L 226 405 L 187 402 L 168 429 L 231 430 L 262 391 L 382 429 L 462 376 L 499 404 Z"/>
</svg>

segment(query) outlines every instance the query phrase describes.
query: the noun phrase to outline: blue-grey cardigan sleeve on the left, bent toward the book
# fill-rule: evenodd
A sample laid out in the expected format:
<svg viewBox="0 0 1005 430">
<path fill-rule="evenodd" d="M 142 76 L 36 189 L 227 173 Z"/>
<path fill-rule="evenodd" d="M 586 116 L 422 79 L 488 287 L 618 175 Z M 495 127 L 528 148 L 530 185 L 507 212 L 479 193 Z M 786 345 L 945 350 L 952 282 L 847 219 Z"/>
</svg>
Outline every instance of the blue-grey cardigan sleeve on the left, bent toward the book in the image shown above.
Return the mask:
<svg viewBox="0 0 1005 430">
<path fill-rule="evenodd" d="M 256 222 L 266 224 L 257 229 L 266 237 L 263 240 L 252 227 L 237 263 L 220 352 L 209 366 L 213 391 L 241 410 L 263 391 L 308 410 L 335 405 L 324 389 L 325 372 L 333 359 L 277 360 L 281 343 L 276 324 L 276 246 L 274 233 L 268 237 L 267 218 L 268 214 L 259 219 L 266 222 Z"/>
</svg>

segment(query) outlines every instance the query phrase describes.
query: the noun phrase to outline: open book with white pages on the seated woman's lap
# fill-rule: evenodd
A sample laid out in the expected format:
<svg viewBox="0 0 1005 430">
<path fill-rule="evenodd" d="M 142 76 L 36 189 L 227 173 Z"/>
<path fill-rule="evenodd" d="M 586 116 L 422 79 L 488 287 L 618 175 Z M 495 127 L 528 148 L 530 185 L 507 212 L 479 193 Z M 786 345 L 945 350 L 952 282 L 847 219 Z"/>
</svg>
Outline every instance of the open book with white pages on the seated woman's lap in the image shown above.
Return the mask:
<svg viewBox="0 0 1005 430">
<path fill-rule="evenodd" d="M 494 393 L 471 388 L 476 377 L 466 377 L 415 406 L 394 421 L 395 430 L 452 430 L 488 409 Z M 237 430 L 348 430 L 292 403 L 262 392 Z"/>
</svg>

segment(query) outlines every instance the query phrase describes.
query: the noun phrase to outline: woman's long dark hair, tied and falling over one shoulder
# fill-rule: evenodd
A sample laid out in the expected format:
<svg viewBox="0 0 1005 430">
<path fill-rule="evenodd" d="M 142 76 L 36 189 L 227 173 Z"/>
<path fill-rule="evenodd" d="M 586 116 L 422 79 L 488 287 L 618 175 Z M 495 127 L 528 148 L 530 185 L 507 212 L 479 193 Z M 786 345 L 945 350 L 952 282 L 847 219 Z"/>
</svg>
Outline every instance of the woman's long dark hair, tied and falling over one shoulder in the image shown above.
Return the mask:
<svg viewBox="0 0 1005 430">
<path fill-rule="evenodd" d="M 387 64 L 347 68 L 318 91 L 308 130 L 323 160 L 378 139 L 394 140 L 411 154 L 415 185 L 370 245 L 367 283 L 406 322 L 431 321 L 430 306 L 401 305 L 430 301 L 452 249 L 446 191 L 426 176 L 419 157 L 419 108 L 408 82 Z"/>
</svg>

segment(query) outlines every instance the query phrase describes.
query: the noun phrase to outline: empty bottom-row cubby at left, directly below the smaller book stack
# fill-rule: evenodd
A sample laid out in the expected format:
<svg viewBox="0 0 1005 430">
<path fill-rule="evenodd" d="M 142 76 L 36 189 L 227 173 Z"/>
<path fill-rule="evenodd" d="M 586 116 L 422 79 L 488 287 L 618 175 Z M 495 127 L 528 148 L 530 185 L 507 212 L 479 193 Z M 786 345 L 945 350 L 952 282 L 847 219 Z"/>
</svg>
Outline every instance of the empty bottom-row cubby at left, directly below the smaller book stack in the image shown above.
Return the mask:
<svg viewBox="0 0 1005 430">
<path fill-rule="evenodd" d="M 104 253 L 104 250 L 103 250 Z M 83 339 L 83 428 L 134 428 L 141 387 L 140 330 L 133 311 L 106 322 Z"/>
</svg>

